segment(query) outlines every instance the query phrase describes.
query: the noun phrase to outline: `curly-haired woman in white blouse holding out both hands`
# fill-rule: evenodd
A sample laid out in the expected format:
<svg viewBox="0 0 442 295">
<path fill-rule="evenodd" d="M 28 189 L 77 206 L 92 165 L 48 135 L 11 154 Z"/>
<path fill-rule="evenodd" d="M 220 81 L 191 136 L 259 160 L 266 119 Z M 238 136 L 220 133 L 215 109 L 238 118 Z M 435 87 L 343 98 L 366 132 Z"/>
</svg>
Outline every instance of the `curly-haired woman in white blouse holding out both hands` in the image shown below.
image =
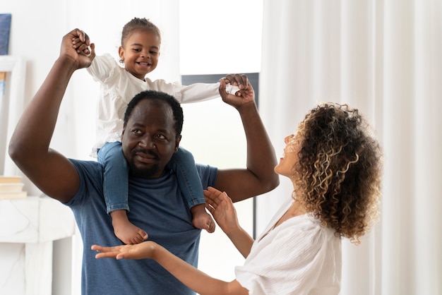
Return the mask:
<svg viewBox="0 0 442 295">
<path fill-rule="evenodd" d="M 381 148 L 357 109 L 333 103 L 312 109 L 285 143 L 275 172 L 292 181 L 292 198 L 256 241 L 226 193 L 205 191 L 208 210 L 246 258 L 234 281 L 209 277 L 153 241 L 94 245 L 96 257 L 156 260 L 198 294 L 338 294 L 341 237 L 358 244 L 378 214 Z"/>
</svg>

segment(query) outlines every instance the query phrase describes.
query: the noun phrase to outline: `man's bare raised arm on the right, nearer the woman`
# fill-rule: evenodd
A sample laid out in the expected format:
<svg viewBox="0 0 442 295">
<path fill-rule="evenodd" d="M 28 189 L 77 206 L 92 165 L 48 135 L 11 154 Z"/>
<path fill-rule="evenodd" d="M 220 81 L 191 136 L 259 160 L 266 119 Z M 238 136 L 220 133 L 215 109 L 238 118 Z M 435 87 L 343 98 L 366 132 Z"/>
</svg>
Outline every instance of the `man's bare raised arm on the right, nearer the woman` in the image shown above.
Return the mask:
<svg viewBox="0 0 442 295">
<path fill-rule="evenodd" d="M 226 191 L 237 202 L 273 190 L 279 184 L 279 176 L 273 171 L 277 164 L 275 149 L 258 114 L 249 80 L 238 74 L 227 76 L 227 80 L 238 84 L 241 89 L 241 97 L 228 95 L 225 81 L 220 81 L 222 100 L 235 107 L 241 116 L 247 140 L 247 168 L 220 170 L 215 188 Z"/>
</svg>

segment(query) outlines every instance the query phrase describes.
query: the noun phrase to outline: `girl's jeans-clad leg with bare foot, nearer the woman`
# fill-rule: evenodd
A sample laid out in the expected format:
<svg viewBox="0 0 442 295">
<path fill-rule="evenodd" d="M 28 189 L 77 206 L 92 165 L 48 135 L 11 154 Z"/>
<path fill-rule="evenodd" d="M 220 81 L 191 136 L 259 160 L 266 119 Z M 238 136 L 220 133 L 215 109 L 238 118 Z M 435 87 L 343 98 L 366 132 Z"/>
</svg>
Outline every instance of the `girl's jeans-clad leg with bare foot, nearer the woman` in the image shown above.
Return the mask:
<svg viewBox="0 0 442 295">
<path fill-rule="evenodd" d="M 193 227 L 208 232 L 215 231 L 215 222 L 205 210 L 203 186 L 191 152 L 179 148 L 172 156 L 169 168 L 176 171 L 179 188 L 192 213 Z"/>
</svg>

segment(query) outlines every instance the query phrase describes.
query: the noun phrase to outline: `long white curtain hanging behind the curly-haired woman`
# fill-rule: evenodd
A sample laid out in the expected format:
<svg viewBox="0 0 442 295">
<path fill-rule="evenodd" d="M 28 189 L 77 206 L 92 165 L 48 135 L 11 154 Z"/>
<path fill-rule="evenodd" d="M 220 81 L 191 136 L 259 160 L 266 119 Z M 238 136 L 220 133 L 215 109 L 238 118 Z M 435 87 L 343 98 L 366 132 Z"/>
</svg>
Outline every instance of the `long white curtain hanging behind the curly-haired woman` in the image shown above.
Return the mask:
<svg viewBox="0 0 442 295">
<path fill-rule="evenodd" d="M 277 153 L 316 102 L 348 103 L 385 152 L 381 220 L 343 243 L 341 294 L 442 294 L 442 2 L 264 0 L 260 112 Z M 291 193 L 257 198 L 258 231 Z"/>
</svg>

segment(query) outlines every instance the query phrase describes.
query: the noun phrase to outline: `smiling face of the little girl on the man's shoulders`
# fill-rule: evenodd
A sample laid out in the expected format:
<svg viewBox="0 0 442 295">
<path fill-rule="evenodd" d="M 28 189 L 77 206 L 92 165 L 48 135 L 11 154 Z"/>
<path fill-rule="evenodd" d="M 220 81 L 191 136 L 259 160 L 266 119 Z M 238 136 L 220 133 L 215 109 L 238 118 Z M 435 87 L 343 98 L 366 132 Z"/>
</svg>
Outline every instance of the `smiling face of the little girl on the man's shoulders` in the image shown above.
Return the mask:
<svg viewBox="0 0 442 295">
<path fill-rule="evenodd" d="M 124 68 L 136 78 L 144 80 L 147 73 L 155 70 L 160 57 L 160 37 L 153 32 L 134 30 L 119 47 Z"/>
</svg>

